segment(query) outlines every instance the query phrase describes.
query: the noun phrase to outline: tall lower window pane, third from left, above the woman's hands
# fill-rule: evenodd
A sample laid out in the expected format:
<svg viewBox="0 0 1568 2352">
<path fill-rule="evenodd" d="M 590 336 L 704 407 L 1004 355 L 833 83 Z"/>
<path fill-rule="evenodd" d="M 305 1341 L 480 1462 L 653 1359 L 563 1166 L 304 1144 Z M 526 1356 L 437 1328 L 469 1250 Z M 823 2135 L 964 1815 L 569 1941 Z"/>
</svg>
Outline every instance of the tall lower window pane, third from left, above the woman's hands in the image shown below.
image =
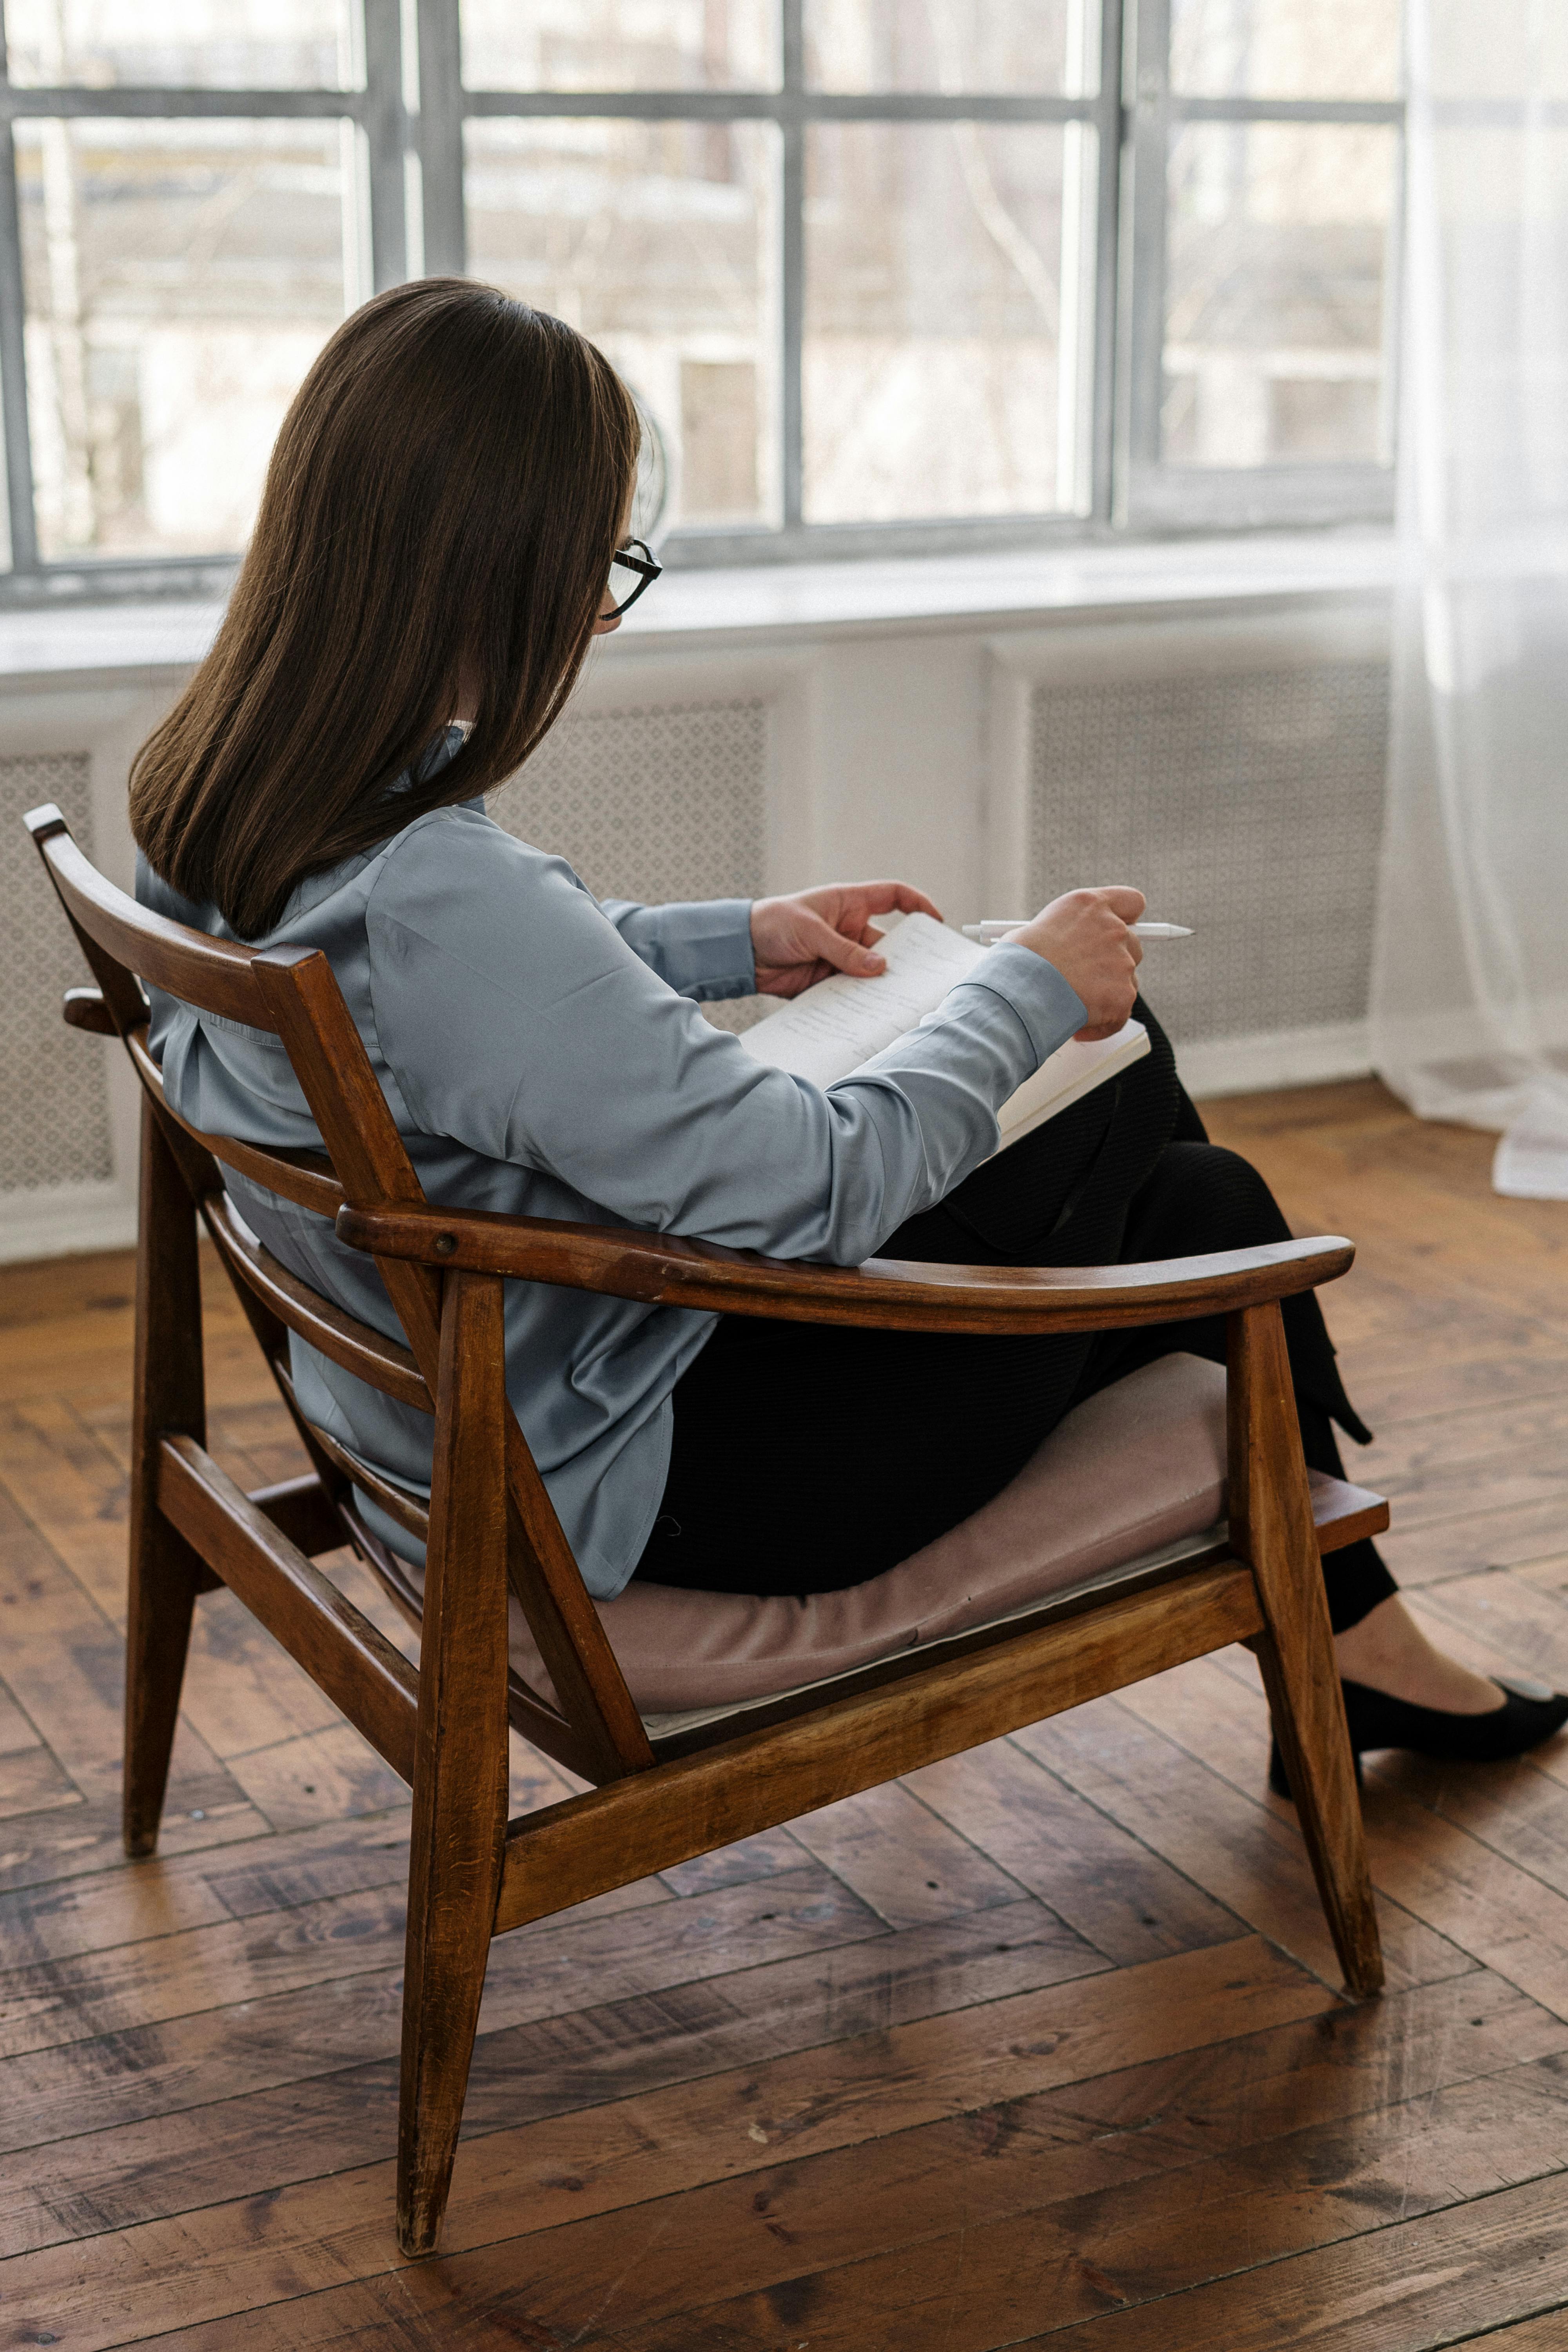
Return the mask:
<svg viewBox="0 0 1568 2352">
<path fill-rule="evenodd" d="M 806 134 L 811 522 L 1058 499 L 1063 148 L 1077 125 Z M 1070 374 L 1070 369 L 1063 369 Z"/>
</svg>

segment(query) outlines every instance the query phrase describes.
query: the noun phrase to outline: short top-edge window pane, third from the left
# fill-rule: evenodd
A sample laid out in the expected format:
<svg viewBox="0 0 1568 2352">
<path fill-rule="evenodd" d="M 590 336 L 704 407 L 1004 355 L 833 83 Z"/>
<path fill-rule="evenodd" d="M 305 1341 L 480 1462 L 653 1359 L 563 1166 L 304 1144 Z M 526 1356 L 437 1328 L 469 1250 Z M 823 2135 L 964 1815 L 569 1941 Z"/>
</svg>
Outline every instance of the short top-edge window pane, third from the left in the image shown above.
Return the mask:
<svg viewBox="0 0 1568 2352">
<path fill-rule="evenodd" d="M 1084 94 L 1095 0 L 804 0 L 813 89 Z"/>
</svg>

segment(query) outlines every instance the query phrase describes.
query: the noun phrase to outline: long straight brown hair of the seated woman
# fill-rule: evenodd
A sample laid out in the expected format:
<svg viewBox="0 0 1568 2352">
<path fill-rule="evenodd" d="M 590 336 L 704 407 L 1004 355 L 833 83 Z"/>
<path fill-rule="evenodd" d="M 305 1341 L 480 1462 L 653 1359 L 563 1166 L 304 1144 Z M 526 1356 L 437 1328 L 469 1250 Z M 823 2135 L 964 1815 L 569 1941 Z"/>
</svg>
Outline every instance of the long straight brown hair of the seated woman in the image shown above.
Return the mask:
<svg viewBox="0 0 1568 2352">
<path fill-rule="evenodd" d="M 132 833 L 240 938 L 310 873 L 508 776 L 583 666 L 637 412 L 581 334 L 463 278 L 355 310 L 284 416 L 216 642 L 132 767 Z M 473 680 L 463 750 L 393 802 Z"/>
</svg>

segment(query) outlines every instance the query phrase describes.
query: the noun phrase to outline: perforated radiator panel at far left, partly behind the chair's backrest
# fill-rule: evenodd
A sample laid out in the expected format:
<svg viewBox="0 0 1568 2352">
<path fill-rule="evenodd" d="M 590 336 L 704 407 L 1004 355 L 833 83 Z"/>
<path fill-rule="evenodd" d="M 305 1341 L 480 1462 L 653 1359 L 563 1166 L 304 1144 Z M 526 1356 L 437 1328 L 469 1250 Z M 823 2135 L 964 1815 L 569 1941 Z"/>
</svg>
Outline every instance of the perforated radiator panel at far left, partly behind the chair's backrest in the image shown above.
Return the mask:
<svg viewBox="0 0 1568 2352">
<path fill-rule="evenodd" d="M 103 1049 L 59 1016 L 89 974 L 21 823 L 40 800 L 59 802 L 92 856 L 87 753 L 0 760 L 0 1192 L 113 1176 Z"/>
</svg>

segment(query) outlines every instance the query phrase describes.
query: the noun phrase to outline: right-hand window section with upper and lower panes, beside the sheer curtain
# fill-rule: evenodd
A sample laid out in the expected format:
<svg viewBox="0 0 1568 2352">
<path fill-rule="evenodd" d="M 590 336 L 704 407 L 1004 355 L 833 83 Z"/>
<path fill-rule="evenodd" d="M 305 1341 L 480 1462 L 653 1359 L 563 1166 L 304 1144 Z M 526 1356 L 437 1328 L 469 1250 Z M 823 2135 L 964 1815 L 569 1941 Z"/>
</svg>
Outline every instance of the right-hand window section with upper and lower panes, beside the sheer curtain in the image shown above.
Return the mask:
<svg viewBox="0 0 1568 2352">
<path fill-rule="evenodd" d="M 1140 0 L 1121 510 L 1392 510 L 1399 0 Z"/>
</svg>

